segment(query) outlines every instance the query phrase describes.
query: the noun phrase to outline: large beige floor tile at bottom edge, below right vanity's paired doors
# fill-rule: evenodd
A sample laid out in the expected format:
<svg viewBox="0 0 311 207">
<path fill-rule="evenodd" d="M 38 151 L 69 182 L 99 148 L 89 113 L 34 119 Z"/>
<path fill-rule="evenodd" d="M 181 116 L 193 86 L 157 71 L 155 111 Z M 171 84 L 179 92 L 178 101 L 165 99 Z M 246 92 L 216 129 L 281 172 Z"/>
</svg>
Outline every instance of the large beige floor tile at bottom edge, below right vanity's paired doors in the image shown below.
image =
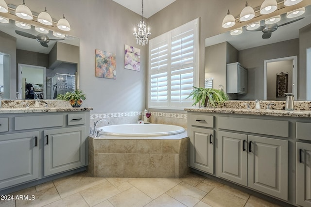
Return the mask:
<svg viewBox="0 0 311 207">
<path fill-rule="evenodd" d="M 243 207 L 246 203 L 246 200 L 218 188 L 210 191 L 202 201 L 212 207 Z"/>
</svg>

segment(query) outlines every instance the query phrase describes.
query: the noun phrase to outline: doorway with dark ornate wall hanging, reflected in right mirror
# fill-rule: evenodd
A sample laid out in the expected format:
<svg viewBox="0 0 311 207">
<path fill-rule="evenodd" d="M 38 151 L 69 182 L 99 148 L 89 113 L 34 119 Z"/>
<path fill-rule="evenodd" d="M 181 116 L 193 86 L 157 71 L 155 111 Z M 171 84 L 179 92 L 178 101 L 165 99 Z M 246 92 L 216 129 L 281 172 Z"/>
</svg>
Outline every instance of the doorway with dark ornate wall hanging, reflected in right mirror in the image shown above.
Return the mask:
<svg viewBox="0 0 311 207">
<path fill-rule="evenodd" d="M 283 100 L 284 93 L 297 99 L 297 56 L 264 61 L 263 99 Z"/>
</svg>

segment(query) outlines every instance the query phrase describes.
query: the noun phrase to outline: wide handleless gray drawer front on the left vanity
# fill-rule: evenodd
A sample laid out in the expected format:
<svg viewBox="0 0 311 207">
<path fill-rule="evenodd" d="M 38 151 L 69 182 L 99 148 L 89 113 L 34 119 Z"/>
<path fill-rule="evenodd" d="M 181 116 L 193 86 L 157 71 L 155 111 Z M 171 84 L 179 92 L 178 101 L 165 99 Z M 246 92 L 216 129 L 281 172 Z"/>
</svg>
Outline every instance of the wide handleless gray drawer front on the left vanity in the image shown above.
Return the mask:
<svg viewBox="0 0 311 207">
<path fill-rule="evenodd" d="M 17 116 L 15 117 L 15 130 L 62 127 L 64 125 L 64 116 L 44 115 L 44 116 Z"/>
</svg>

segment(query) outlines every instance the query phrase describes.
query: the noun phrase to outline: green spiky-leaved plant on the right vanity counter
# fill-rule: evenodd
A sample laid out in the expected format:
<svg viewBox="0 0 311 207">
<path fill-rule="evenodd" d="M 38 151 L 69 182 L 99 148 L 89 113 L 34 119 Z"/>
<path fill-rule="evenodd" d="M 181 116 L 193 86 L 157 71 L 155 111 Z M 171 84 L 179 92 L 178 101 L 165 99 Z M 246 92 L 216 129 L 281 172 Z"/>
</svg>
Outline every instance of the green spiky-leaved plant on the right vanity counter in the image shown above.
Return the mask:
<svg viewBox="0 0 311 207">
<path fill-rule="evenodd" d="M 201 104 L 201 106 L 207 106 L 208 102 L 209 106 L 216 107 L 229 100 L 228 95 L 224 91 L 213 88 L 197 88 L 193 86 L 193 91 L 187 98 L 191 96 L 193 100 L 192 106 L 197 103 Z"/>
</svg>

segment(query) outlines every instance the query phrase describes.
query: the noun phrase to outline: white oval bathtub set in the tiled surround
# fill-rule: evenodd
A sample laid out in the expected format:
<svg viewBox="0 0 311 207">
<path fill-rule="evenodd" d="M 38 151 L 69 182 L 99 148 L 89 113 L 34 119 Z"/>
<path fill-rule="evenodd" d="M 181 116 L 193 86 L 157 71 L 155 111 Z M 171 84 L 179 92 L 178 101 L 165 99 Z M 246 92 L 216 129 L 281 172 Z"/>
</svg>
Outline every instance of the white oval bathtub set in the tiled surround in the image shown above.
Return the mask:
<svg viewBox="0 0 311 207">
<path fill-rule="evenodd" d="M 183 127 L 164 124 L 122 124 L 98 127 L 101 135 L 121 137 L 155 137 L 181 134 Z"/>
</svg>

